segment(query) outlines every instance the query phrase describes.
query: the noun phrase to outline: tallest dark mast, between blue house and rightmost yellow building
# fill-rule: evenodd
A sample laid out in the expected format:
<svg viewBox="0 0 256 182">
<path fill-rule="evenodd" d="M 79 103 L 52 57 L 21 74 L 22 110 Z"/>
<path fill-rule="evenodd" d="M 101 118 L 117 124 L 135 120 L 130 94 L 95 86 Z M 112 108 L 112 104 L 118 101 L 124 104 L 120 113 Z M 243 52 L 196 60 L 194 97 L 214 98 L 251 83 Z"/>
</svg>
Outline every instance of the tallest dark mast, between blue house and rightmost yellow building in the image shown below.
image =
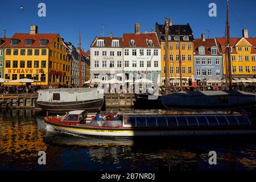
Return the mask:
<svg viewBox="0 0 256 182">
<path fill-rule="evenodd" d="M 228 72 L 226 75 L 229 77 L 229 89 L 232 89 L 232 69 L 231 69 L 231 57 L 230 57 L 230 32 L 229 32 L 229 0 L 227 0 L 227 9 L 226 9 L 226 56 L 228 57 Z M 227 83 L 227 80 L 226 80 Z"/>
</svg>

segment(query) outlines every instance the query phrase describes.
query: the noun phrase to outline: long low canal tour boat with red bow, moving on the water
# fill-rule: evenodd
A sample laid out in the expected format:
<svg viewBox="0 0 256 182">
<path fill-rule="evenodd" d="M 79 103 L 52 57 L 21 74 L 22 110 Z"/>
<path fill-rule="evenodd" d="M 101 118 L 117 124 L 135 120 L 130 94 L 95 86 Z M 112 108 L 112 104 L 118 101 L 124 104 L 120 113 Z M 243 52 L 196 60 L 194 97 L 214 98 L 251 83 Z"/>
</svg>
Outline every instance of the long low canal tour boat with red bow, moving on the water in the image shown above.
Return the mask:
<svg viewBox="0 0 256 182">
<path fill-rule="evenodd" d="M 108 117 L 108 121 L 105 121 Z M 68 134 L 105 137 L 256 134 L 256 120 L 246 114 L 168 114 L 168 111 L 137 111 L 113 117 L 109 113 L 69 111 L 46 117 L 47 128 Z"/>
</svg>

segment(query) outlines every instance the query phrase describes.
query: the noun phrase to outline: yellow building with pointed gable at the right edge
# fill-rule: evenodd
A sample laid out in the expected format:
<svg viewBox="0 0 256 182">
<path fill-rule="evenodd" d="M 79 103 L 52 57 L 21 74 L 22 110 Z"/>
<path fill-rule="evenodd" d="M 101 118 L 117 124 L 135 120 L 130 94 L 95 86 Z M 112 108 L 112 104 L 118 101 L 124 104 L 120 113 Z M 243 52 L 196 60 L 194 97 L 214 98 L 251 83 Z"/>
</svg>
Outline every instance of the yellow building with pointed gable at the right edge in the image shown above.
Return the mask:
<svg viewBox="0 0 256 182">
<path fill-rule="evenodd" d="M 225 38 L 217 38 L 217 40 L 222 49 L 223 71 L 226 75 Z M 255 77 L 256 38 L 231 38 L 230 47 L 233 77 Z"/>
</svg>

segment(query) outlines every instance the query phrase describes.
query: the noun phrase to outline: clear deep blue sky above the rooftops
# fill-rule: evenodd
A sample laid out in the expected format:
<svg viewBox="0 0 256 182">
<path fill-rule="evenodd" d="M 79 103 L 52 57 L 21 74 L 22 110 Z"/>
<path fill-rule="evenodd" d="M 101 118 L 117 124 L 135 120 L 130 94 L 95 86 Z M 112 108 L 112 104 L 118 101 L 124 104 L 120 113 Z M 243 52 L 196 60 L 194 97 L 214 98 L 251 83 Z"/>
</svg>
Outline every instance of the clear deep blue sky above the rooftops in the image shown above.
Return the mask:
<svg viewBox="0 0 256 182">
<path fill-rule="evenodd" d="M 242 36 L 242 29 L 256 37 L 255 0 L 230 1 L 230 32 L 232 37 Z M 38 16 L 38 4 L 46 3 L 46 17 Z M 208 15 L 209 3 L 216 3 L 217 17 Z M 20 10 L 20 6 L 24 10 Z M 0 36 L 6 28 L 6 36 L 15 32 L 26 33 L 31 24 L 38 25 L 39 33 L 59 33 L 75 46 L 81 28 L 82 47 L 89 49 L 95 36 L 101 35 L 101 23 L 105 24 L 104 35 L 122 36 L 134 32 L 134 24 L 141 23 L 141 31 L 151 31 L 155 23 L 164 23 L 164 16 L 172 18 L 173 24 L 189 23 L 195 38 L 210 30 L 210 38 L 225 35 L 226 0 L 5 0 L 0 6 Z"/>
</svg>

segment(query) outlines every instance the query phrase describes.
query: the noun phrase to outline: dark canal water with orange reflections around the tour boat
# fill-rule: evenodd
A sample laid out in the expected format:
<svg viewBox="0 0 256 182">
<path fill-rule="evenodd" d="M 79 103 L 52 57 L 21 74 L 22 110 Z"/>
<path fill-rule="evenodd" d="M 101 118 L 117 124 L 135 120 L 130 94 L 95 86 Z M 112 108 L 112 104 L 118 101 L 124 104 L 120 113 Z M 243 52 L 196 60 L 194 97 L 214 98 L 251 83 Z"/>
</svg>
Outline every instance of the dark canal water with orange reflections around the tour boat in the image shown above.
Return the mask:
<svg viewBox="0 0 256 182">
<path fill-rule="evenodd" d="M 44 113 L 0 110 L 0 170 L 256 171 L 255 138 L 97 138 L 46 131 Z M 38 152 L 46 152 L 46 165 Z M 217 164 L 209 165 L 209 151 Z"/>
</svg>

